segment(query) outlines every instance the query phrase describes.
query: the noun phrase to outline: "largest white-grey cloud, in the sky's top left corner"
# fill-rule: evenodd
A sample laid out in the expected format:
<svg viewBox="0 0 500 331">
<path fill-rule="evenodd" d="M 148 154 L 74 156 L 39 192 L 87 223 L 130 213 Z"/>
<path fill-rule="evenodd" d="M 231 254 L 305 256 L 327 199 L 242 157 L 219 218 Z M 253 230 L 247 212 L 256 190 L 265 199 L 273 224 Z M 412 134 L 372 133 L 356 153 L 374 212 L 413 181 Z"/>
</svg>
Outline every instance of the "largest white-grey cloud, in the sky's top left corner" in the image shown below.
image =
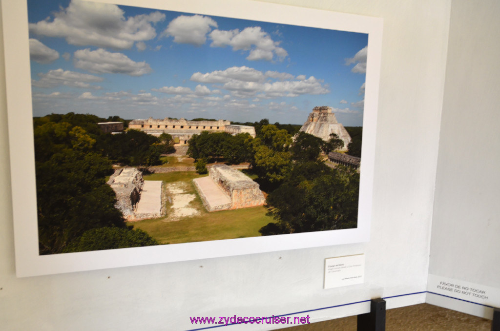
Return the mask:
<svg viewBox="0 0 500 331">
<path fill-rule="evenodd" d="M 115 4 L 72 0 L 67 8 L 60 8 L 54 18 L 29 23 L 31 33 L 63 37 L 73 45 L 94 45 L 125 49 L 135 41 L 150 40 L 156 36 L 152 24 L 165 19 L 159 11 L 125 17 Z"/>
</svg>

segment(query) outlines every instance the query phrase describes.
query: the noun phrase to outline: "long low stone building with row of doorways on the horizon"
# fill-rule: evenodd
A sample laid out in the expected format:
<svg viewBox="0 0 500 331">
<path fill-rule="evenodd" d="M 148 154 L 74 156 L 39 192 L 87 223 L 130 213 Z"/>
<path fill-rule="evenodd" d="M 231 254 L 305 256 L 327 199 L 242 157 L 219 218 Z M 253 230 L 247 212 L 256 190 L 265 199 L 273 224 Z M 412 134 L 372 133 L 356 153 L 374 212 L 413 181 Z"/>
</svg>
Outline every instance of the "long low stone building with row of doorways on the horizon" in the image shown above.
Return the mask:
<svg viewBox="0 0 500 331">
<path fill-rule="evenodd" d="M 171 119 L 134 119 L 128 123 L 128 128 L 144 131 L 148 134 L 159 136 L 165 132 L 170 134 L 175 144 L 184 145 L 193 136 L 202 131 L 228 132 L 230 134 L 249 133 L 255 137 L 255 128 L 249 125 L 235 125 L 228 120 L 186 120 L 185 118 Z"/>
</svg>

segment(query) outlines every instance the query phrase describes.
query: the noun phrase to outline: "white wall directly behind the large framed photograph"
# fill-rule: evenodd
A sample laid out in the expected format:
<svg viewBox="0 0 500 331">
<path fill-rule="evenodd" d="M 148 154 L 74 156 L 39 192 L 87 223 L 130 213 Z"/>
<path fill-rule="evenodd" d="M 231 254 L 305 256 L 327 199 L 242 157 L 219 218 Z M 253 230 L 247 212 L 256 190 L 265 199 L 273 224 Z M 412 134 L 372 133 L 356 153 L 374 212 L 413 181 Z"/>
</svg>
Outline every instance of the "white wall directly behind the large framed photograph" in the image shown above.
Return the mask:
<svg viewBox="0 0 500 331">
<path fill-rule="evenodd" d="M 384 19 L 370 241 L 16 278 L 1 51 L 3 329 L 192 329 L 196 326 L 188 316 L 283 314 L 425 290 L 450 0 L 272 2 Z M 366 254 L 365 285 L 322 289 L 323 259 L 356 253 Z M 389 299 L 387 307 L 422 302 L 424 297 Z M 355 304 L 309 315 L 318 321 L 366 311 L 368 304 Z M 245 329 L 244 325 L 231 327 Z"/>
</svg>

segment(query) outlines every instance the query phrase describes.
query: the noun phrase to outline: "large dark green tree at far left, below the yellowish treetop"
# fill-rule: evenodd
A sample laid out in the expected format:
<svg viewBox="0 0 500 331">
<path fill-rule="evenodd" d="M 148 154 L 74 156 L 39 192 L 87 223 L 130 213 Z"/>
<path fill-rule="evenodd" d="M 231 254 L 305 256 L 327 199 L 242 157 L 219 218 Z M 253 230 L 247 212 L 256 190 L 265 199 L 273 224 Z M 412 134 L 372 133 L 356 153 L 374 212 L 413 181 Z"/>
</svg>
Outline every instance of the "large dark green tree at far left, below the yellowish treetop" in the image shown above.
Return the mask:
<svg viewBox="0 0 500 331">
<path fill-rule="evenodd" d="M 104 180 L 112 172 L 107 158 L 63 149 L 35 166 L 40 254 L 61 252 L 94 227 L 124 226 L 114 208 L 115 194 Z"/>
</svg>

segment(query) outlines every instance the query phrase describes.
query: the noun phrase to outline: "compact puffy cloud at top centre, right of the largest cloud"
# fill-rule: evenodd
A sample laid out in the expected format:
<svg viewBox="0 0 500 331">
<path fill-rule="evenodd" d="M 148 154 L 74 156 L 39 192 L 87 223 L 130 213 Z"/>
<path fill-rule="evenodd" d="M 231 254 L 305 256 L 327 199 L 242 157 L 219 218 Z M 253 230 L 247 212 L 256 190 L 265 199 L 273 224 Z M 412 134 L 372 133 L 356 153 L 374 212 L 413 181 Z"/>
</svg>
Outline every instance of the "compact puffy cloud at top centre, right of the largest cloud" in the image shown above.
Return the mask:
<svg viewBox="0 0 500 331">
<path fill-rule="evenodd" d="M 200 46 L 206 41 L 206 34 L 217 27 L 217 22 L 207 16 L 180 15 L 168 23 L 161 35 L 173 36 L 173 41 L 177 43 L 190 43 Z"/>
</svg>

